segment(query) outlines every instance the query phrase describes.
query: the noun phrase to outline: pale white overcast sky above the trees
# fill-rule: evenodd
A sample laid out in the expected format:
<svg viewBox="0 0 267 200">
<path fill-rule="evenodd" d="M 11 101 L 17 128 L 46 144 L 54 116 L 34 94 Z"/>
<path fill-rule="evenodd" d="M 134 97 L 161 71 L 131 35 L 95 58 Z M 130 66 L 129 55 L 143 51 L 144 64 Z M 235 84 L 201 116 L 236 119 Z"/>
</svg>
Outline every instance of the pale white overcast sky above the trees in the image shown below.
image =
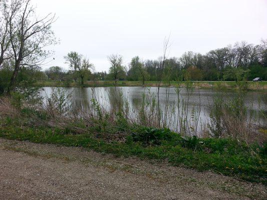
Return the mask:
<svg viewBox="0 0 267 200">
<path fill-rule="evenodd" d="M 107 55 L 156 59 L 170 34 L 169 56 L 207 51 L 236 41 L 267 38 L 267 0 L 33 0 L 37 13 L 56 13 L 53 65 L 68 68 L 69 51 L 86 55 L 108 71 Z"/>
</svg>

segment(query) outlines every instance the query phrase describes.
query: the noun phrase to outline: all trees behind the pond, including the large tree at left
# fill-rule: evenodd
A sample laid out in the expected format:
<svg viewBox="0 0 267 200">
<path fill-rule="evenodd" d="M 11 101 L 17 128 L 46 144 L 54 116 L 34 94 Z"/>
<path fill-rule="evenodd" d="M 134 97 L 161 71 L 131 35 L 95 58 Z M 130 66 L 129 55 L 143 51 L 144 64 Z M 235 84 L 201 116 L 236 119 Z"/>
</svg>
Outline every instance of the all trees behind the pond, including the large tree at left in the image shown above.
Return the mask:
<svg viewBox="0 0 267 200">
<path fill-rule="evenodd" d="M 55 14 L 40 17 L 31 0 L 0 0 L 0 93 L 16 90 L 21 84 L 37 80 L 70 80 L 84 84 L 87 80 L 267 80 L 267 40 L 260 44 L 236 42 L 205 54 L 188 51 L 180 57 L 143 60 L 134 56 L 125 63 L 123 56 L 107 57 L 109 71 L 99 72 L 81 53 L 64 56 L 69 69 L 42 64 L 53 51 L 48 46 L 58 42 L 52 30 Z"/>
</svg>

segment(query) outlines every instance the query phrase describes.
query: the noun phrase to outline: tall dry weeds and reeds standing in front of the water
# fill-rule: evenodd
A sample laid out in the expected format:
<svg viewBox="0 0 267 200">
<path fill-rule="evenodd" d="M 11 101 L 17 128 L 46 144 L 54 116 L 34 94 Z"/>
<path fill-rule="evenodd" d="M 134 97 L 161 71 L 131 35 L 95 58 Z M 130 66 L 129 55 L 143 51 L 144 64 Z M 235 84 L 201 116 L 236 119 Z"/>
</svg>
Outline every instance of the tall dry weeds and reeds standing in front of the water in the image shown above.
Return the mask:
<svg viewBox="0 0 267 200">
<path fill-rule="evenodd" d="M 130 106 L 129 100 L 123 95 L 120 87 L 107 88 L 108 95 L 95 92 L 92 88 L 91 100 L 83 103 L 73 101 L 73 95 L 77 94 L 57 87 L 52 89 L 51 94 L 44 91 L 42 105 L 40 101 L 34 103 L 30 97 L 23 100 L 17 98 L 16 96 L 20 94 L 16 94 L 11 98 L 11 105 L 14 106 L 7 106 L 8 98 L 2 100 L 2 106 L 10 110 L 13 109 L 12 107 L 24 111 L 33 109 L 31 117 L 36 117 L 39 124 L 50 124 L 55 127 L 57 124 L 60 127 L 72 126 L 76 132 L 79 132 L 79 128 L 84 132 L 86 128 L 92 127 L 89 128 L 90 131 L 95 132 L 114 133 L 120 130 L 120 132 L 131 133 L 133 131 L 130 130 L 130 126 L 148 126 L 170 128 L 183 136 L 233 137 L 245 141 L 253 138 L 257 120 L 255 120 L 256 113 L 248 114 L 248 107 L 244 103 L 245 82 L 237 82 L 239 87 L 235 95 L 228 99 L 218 82 L 218 88 L 221 89 L 216 90 L 217 93 L 210 102 L 208 120 L 203 120 L 200 117 L 202 106 L 199 86 L 190 81 L 190 77 L 185 77 L 185 81 L 182 79 L 184 78 L 181 77 L 174 87 L 175 100 L 169 99 L 171 84 L 165 81 L 165 87 L 157 87 L 156 92 L 146 88 L 142 93 L 141 102 L 135 107 Z M 160 100 L 159 94 L 162 92 L 159 90 L 164 90 L 161 96 L 163 100 Z M 192 105 L 190 98 L 193 95 L 197 96 L 197 99 Z M 103 100 L 103 96 L 107 99 Z M 7 109 L 3 108 L 3 110 Z M 46 117 L 38 118 L 39 116 L 35 115 L 37 112 Z"/>
</svg>

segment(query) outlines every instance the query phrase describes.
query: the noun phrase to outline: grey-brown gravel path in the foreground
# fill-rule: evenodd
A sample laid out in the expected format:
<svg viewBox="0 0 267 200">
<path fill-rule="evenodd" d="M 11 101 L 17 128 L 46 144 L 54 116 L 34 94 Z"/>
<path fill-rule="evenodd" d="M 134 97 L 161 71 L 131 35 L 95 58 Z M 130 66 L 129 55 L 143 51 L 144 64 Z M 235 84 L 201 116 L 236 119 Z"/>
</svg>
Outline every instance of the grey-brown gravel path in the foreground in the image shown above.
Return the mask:
<svg viewBox="0 0 267 200">
<path fill-rule="evenodd" d="M 0 138 L 0 199 L 267 199 L 265 191 L 165 162 Z"/>
</svg>

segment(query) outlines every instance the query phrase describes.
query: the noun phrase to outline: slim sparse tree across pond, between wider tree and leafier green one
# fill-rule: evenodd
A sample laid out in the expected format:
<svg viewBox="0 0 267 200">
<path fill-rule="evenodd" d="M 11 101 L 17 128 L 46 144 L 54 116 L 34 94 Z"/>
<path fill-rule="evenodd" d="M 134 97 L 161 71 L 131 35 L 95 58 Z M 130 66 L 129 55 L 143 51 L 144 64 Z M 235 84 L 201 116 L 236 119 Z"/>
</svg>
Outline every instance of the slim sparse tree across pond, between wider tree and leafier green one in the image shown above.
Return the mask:
<svg viewBox="0 0 267 200">
<path fill-rule="evenodd" d="M 111 63 L 111 67 L 109 68 L 109 73 L 113 76 L 115 80 L 115 84 L 117 84 L 117 79 L 119 74 L 124 71 L 124 67 L 122 66 L 123 60 L 122 56 L 118 54 L 112 54 L 108 56 L 108 60 Z"/>
</svg>

